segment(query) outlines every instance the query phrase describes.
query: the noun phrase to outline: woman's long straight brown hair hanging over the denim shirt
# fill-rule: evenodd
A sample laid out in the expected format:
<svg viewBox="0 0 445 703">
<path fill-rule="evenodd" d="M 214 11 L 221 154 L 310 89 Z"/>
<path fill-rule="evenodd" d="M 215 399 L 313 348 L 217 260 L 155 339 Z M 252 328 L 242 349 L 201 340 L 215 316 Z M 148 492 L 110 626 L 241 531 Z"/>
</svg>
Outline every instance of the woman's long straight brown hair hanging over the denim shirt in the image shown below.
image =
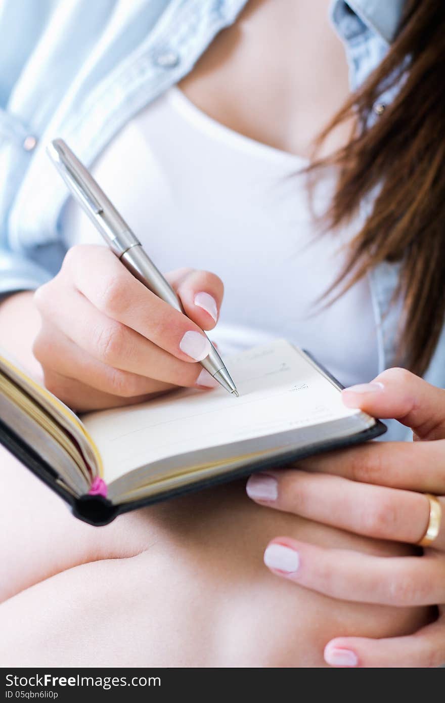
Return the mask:
<svg viewBox="0 0 445 703">
<path fill-rule="evenodd" d="M 394 299 L 403 297 L 404 312 L 397 363 L 419 375 L 430 362 L 445 316 L 444 69 L 445 3 L 408 0 L 387 56 L 328 124 L 318 145 L 352 116 L 358 124 L 354 136 L 310 167 L 340 166 L 330 226 L 350 217 L 378 188 L 373 210 L 327 295 L 339 287 L 341 295 L 380 262 L 400 262 Z M 379 96 L 398 82 L 394 100 L 366 127 Z"/>
</svg>

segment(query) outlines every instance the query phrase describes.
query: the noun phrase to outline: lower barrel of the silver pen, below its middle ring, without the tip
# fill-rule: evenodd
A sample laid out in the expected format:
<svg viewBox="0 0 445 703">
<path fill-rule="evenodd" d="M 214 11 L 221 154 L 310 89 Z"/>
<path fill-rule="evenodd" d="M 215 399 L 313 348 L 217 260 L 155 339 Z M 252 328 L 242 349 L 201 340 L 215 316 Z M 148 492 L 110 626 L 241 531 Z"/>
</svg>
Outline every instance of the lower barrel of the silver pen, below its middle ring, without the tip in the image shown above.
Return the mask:
<svg viewBox="0 0 445 703">
<path fill-rule="evenodd" d="M 172 286 L 165 280 L 162 273 L 157 269 L 155 264 L 153 264 L 140 244 L 129 248 L 122 254 L 120 261 L 135 278 L 140 280 L 141 283 L 148 288 L 148 290 L 151 290 L 151 292 L 157 295 L 161 300 L 165 300 L 165 302 L 174 307 L 174 309 L 184 315 L 186 314 Z M 212 342 L 210 342 L 210 344 L 212 344 Z M 202 359 L 200 363 L 212 376 L 222 368 L 225 368 L 221 356 L 219 356 L 213 344 L 208 356 Z"/>
</svg>

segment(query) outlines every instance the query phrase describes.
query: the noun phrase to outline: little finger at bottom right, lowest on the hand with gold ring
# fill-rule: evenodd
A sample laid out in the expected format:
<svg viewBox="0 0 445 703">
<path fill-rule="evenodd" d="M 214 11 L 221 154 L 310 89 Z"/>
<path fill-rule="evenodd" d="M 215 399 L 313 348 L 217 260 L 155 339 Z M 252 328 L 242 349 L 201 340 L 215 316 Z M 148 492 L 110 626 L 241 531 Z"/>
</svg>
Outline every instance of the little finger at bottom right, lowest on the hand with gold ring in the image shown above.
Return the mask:
<svg viewBox="0 0 445 703">
<path fill-rule="evenodd" d="M 427 669 L 445 664 L 445 611 L 432 624 L 406 637 L 372 640 L 363 637 L 337 637 L 325 647 L 330 666 L 409 667 Z"/>
</svg>

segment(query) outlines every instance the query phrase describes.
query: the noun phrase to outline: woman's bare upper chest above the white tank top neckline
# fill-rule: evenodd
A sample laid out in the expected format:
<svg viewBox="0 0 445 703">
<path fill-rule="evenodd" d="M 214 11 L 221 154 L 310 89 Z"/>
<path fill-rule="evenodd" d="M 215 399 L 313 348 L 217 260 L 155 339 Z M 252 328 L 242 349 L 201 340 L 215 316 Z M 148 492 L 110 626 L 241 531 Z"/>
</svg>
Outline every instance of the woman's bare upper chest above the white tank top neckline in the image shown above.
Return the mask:
<svg viewBox="0 0 445 703">
<path fill-rule="evenodd" d="M 349 96 L 344 46 L 330 25 L 329 6 L 330 0 L 249 0 L 179 87 L 233 131 L 309 158 Z M 335 129 L 319 155 L 346 143 L 351 129 Z"/>
</svg>

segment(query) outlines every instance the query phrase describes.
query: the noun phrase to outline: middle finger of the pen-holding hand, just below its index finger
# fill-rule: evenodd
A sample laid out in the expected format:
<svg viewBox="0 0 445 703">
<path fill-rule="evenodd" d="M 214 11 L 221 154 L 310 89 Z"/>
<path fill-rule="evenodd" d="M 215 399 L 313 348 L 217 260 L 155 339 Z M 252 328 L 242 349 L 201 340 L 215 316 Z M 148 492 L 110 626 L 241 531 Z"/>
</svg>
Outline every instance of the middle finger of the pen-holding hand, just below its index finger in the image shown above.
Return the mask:
<svg viewBox="0 0 445 703">
<path fill-rule="evenodd" d="M 195 385 L 202 366 L 186 363 L 120 322 L 105 316 L 73 288 L 42 287 L 37 306 L 80 349 L 105 366 L 178 386 Z M 66 310 L 74 311 L 67 316 Z M 210 381 L 209 381 L 210 383 Z"/>
</svg>

